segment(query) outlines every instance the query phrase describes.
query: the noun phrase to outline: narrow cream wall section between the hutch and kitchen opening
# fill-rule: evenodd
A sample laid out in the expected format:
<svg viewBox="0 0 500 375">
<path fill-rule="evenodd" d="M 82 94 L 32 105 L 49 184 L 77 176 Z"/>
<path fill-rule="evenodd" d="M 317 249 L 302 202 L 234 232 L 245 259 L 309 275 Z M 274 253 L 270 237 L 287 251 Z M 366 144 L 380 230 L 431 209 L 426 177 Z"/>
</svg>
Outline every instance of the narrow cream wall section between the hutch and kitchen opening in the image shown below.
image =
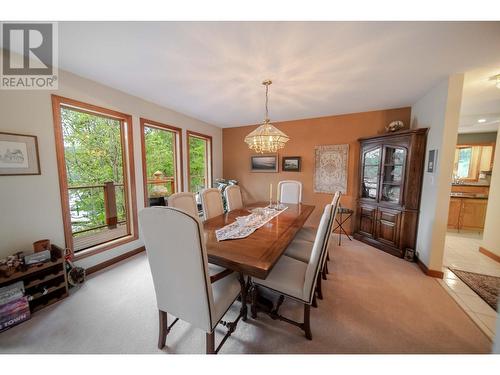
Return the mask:
<svg viewBox="0 0 500 375">
<path fill-rule="evenodd" d="M 412 106 L 412 127 L 429 128 L 416 250 L 437 271 L 443 263 L 462 89 L 463 74 L 450 76 Z M 438 150 L 433 173 L 427 172 L 429 150 Z"/>
</svg>

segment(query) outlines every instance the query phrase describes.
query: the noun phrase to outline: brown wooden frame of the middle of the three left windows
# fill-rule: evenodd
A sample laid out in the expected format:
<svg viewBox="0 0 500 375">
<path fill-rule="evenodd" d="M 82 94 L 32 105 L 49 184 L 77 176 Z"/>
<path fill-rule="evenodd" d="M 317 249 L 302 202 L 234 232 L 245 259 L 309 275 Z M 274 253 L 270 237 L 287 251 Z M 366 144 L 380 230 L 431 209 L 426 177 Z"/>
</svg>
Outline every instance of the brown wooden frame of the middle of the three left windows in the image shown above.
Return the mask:
<svg viewBox="0 0 500 375">
<path fill-rule="evenodd" d="M 141 158 L 142 158 L 142 179 L 144 187 L 144 207 L 149 206 L 148 197 L 148 176 L 146 165 L 146 137 L 144 136 L 144 128 L 154 128 L 159 130 L 170 131 L 175 134 L 174 141 L 174 169 L 175 169 L 175 192 L 183 191 L 184 189 L 184 168 L 182 163 L 182 129 L 172 125 L 163 124 L 161 122 L 148 120 L 143 117 L 139 119 L 141 124 Z"/>
</svg>

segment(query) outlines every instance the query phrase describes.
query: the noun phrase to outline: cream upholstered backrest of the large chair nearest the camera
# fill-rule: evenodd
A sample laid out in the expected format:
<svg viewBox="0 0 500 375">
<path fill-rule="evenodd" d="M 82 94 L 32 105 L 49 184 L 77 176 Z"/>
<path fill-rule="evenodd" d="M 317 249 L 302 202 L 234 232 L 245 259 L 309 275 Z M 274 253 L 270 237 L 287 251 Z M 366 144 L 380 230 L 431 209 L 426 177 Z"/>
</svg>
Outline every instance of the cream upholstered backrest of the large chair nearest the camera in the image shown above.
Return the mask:
<svg viewBox="0 0 500 375">
<path fill-rule="evenodd" d="M 211 332 L 212 286 L 200 221 L 173 207 L 139 213 L 158 309 Z"/>
</svg>

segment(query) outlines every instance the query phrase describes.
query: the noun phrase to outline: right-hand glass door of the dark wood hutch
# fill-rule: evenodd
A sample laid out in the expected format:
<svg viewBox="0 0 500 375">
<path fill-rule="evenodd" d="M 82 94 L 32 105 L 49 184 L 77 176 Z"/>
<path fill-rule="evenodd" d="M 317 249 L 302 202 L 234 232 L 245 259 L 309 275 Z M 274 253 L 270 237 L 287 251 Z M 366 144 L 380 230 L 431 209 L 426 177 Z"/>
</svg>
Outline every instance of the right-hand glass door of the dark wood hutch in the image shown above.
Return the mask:
<svg viewBox="0 0 500 375">
<path fill-rule="evenodd" d="M 405 163 L 406 149 L 392 146 L 384 148 L 381 201 L 390 203 L 401 201 Z"/>
</svg>

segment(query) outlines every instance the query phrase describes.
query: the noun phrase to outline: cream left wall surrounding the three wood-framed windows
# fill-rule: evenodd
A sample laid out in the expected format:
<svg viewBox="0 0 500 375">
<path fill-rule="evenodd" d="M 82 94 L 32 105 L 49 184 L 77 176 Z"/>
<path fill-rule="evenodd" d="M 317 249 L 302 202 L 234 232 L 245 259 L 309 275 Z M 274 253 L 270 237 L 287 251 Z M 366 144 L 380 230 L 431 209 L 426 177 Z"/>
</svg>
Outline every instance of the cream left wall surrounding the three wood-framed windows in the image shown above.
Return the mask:
<svg viewBox="0 0 500 375">
<path fill-rule="evenodd" d="M 59 181 L 52 121 L 52 93 L 132 115 L 138 208 L 144 207 L 139 117 L 182 128 L 184 167 L 187 165 L 186 129 L 211 135 L 213 176 L 222 176 L 222 130 L 170 109 L 144 101 L 97 82 L 59 71 L 59 89 L 49 91 L 0 90 L 0 131 L 36 135 L 40 176 L 0 176 L 0 258 L 30 250 L 32 243 L 50 238 L 64 245 Z M 126 79 L 126 77 L 124 77 Z M 168 89 L 168 88 L 166 88 Z M 187 180 L 184 168 L 184 181 Z M 184 184 L 185 187 L 187 184 Z M 140 240 L 82 259 L 90 267 L 142 246 Z"/>
</svg>

